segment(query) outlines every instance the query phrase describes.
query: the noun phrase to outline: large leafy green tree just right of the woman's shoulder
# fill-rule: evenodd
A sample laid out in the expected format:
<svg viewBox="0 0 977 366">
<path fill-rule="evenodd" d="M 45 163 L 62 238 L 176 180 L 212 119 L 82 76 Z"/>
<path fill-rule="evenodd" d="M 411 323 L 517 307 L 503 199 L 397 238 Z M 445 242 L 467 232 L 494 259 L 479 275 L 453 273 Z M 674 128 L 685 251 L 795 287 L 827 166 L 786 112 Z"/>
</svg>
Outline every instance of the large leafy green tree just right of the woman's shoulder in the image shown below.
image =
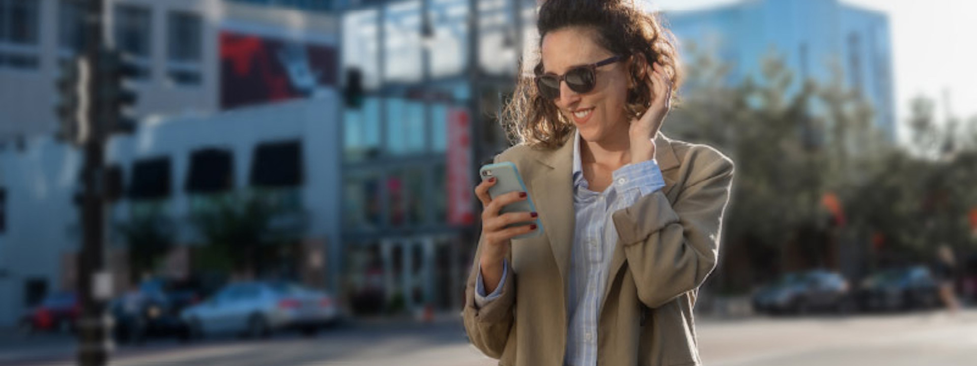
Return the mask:
<svg viewBox="0 0 977 366">
<path fill-rule="evenodd" d="M 839 228 L 822 201 L 831 194 L 844 202 L 847 187 L 869 180 L 863 171 L 889 148 L 871 124 L 871 106 L 837 72 L 827 85 L 795 82 L 776 55 L 737 85 L 721 62 L 706 54 L 693 60 L 687 92 L 664 129 L 736 162 L 723 250 L 734 258 L 720 263 L 721 287 L 743 291 L 771 272 L 833 264 Z"/>
</svg>

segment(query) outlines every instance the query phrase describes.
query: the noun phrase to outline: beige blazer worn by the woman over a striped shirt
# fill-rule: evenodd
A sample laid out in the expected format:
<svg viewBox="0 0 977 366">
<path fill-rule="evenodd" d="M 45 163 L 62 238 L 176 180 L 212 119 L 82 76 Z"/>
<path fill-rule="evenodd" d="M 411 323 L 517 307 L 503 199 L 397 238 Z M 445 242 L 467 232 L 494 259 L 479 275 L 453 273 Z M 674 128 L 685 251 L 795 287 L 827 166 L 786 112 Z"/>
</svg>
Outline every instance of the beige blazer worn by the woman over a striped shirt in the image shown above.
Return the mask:
<svg viewBox="0 0 977 366">
<path fill-rule="evenodd" d="M 716 265 L 733 162 L 715 149 L 656 139 L 665 187 L 614 213 L 619 239 L 598 318 L 598 365 L 700 365 L 692 308 Z M 501 296 L 475 305 L 479 249 L 462 317 L 472 344 L 504 366 L 562 366 L 573 246 L 573 139 L 554 150 L 517 145 L 516 164 L 544 235 L 512 242 Z"/>
</svg>

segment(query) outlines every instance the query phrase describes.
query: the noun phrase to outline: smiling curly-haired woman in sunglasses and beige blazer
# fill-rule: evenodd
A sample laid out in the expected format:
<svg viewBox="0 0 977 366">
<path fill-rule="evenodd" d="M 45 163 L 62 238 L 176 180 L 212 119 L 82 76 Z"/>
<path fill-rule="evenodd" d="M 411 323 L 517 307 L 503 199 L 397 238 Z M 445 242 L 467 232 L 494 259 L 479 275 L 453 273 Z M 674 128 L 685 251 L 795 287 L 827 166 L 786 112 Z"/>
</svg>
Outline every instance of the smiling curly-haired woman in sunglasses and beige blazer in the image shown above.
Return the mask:
<svg viewBox="0 0 977 366">
<path fill-rule="evenodd" d="M 501 365 L 698 365 L 693 305 L 716 265 L 733 163 L 658 133 L 674 43 L 628 0 L 548 0 L 540 61 L 507 106 L 528 192 L 488 196 L 463 311 Z M 528 193 L 528 194 L 527 194 Z M 536 213 L 499 215 L 527 199 Z M 537 218 L 538 229 L 506 224 Z"/>
</svg>

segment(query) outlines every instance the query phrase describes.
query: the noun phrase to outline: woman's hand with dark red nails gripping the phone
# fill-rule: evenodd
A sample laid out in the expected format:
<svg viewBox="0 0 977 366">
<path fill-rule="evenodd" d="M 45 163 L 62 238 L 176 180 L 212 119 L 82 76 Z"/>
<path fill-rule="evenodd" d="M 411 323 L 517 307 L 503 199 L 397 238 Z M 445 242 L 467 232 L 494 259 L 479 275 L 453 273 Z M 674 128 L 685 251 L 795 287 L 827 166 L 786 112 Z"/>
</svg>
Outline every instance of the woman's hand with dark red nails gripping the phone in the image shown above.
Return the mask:
<svg viewBox="0 0 977 366">
<path fill-rule="evenodd" d="M 526 192 L 512 191 L 492 199 L 488 188 L 495 185 L 495 178 L 482 181 L 475 187 L 475 195 L 482 201 L 482 255 L 479 264 L 482 265 L 482 279 L 487 293 L 495 290 L 495 286 L 502 279 L 502 260 L 509 254 L 509 244 L 512 238 L 536 229 L 536 224 L 524 224 L 506 227 L 508 224 L 534 222 L 537 214 L 534 212 L 513 212 L 499 215 L 502 207 L 513 202 L 528 199 Z"/>
</svg>

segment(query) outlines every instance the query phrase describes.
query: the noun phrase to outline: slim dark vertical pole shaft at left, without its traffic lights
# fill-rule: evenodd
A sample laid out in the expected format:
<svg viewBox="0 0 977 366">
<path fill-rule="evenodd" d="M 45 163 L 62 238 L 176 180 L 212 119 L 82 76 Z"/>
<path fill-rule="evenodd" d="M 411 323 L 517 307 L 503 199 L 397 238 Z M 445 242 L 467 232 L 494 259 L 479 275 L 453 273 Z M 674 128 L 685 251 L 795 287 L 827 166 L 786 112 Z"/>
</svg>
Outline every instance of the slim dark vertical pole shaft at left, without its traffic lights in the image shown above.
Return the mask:
<svg viewBox="0 0 977 366">
<path fill-rule="evenodd" d="M 81 301 L 81 319 L 77 323 L 79 366 L 104 366 L 108 363 L 111 344 L 108 335 L 111 320 L 106 302 L 111 297 L 112 276 L 106 266 L 106 205 L 103 180 L 106 133 L 100 118 L 102 105 L 98 102 L 100 53 L 103 49 L 102 14 L 104 0 L 85 3 L 85 47 L 82 52 L 82 111 L 78 121 L 80 137 L 76 140 L 85 151 L 82 168 L 81 224 L 83 241 L 78 256 L 77 288 Z M 87 68 L 87 70 L 85 70 Z M 87 81 L 87 82 L 86 82 Z"/>
</svg>

